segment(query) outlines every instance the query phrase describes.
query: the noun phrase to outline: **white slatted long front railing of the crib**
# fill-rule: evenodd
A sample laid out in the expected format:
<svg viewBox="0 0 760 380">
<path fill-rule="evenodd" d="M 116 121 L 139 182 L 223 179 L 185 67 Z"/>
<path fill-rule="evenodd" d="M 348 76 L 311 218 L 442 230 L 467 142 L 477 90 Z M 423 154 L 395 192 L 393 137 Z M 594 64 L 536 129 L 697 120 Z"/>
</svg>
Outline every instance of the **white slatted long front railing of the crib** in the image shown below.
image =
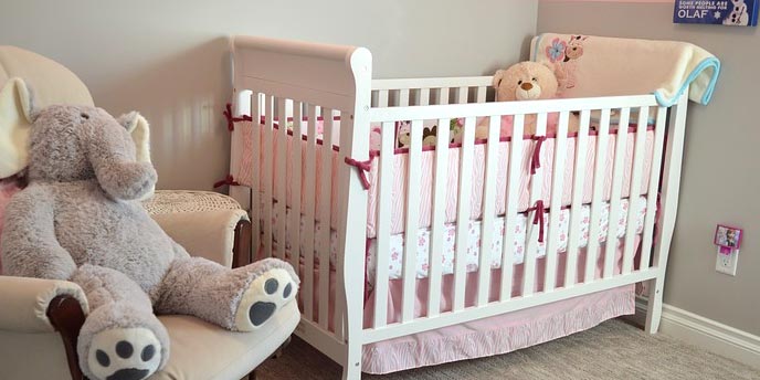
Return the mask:
<svg viewBox="0 0 760 380">
<path fill-rule="evenodd" d="M 410 91 L 411 92 L 411 91 Z M 682 99 L 682 105 L 685 101 Z M 655 108 L 654 120 L 648 119 L 650 109 Z M 631 119 L 632 109 L 637 114 L 634 120 Z M 615 112 L 620 115 L 619 123 L 611 125 L 611 113 Z M 520 183 L 520 170 L 522 152 L 526 150 L 536 149 L 535 140 L 525 140 L 522 138 L 511 138 L 509 142 L 509 167 L 508 180 L 506 190 L 506 214 L 504 244 L 500 257 L 500 284 L 498 297 L 490 294 L 492 284 L 492 266 L 490 256 L 485 254 L 488 252 L 493 241 L 493 222 L 494 219 L 500 215 L 495 213 L 496 203 L 496 169 L 498 167 L 498 144 L 499 144 L 499 125 L 502 115 L 514 115 L 514 130 L 513 136 L 522 136 L 524 124 L 526 115 L 535 115 L 537 123 L 537 136 L 543 136 L 547 130 L 547 116 L 550 113 L 559 113 L 559 123 L 556 138 L 550 141 L 555 146 L 553 165 L 551 172 L 543 172 L 543 166 L 536 169 L 536 172 L 530 179 L 530 205 L 540 204 L 549 201 L 541 199 L 541 183 L 543 176 L 551 177 L 550 187 L 550 204 L 552 210 L 557 212 L 549 213 L 548 233 L 546 234 L 546 257 L 542 261 L 537 258 L 537 245 L 539 228 L 534 226 L 530 232 L 526 234 L 525 245 L 527 246 L 522 266 L 522 279 L 517 284 L 518 289 L 514 289 L 513 278 L 515 263 L 513 262 L 513 245 L 510 242 L 515 240 L 515 223 L 517 220 L 518 210 L 518 193 Z M 562 204 L 562 190 L 564 179 L 564 158 L 570 139 L 568 138 L 568 122 L 571 113 L 577 113 L 580 119 L 580 130 L 574 136 L 576 159 L 573 176 L 571 178 L 572 200 L 570 208 L 569 222 L 569 242 L 566 252 L 558 253 L 559 244 L 559 218 L 560 207 Z M 583 183 L 585 178 L 585 155 L 589 148 L 590 140 L 590 115 L 601 115 L 595 134 L 595 162 L 593 165 L 593 182 L 592 182 L 592 200 L 591 200 L 591 221 L 590 238 L 588 239 L 588 247 L 585 249 L 585 266 L 581 268 L 581 273 L 577 273 L 578 262 L 580 256 L 579 242 L 581 240 L 581 213 L 573 212 L 580 210 L 583 204 Z M 488 118 L 490 128 L 488 129 L 488 139 L 485 141 L 485 162 L 473 161 L 473 151 L 475 146 L 475 127 L 479 117 Z M 664 271 L 661 267 L 663 263 L 650 263 L 650 252 L 652 244 L 655 241 L 655 213 L 657 212 L 657 197 L 658 183 L 661 175 L 661 166 L 663 163 L 663 144 L 666 129 L 667 108 L 657 105 L 654 96 L 625 96 L 625 97 L 602 97 L 588 99 L 558 99 L 558 101 L 541 101 L 541 102 L 522 102 L 522 103 L 475 103 L 448 106 L 409 106 L 409 107 L 379 107 L 370 109 L 370 119 L 373 124 L 380 124 L 381 127 L 381 151 L 378 157 L 379 160 L 379 200 L 378 204 L 378 221 L 377 221 L 377 270 L 376 278 L 372 284 L 374 297 L 374 313 L 372 325 L 365 329 L 365 344 L 377 340 L 389 339 L 398 336 L 404 336 L 418 331 L 443 327 L 452 324 L 463 323 L 472 319 L 483 318 L 502 314 L 509 310 L 521 309 L 526 307 L 537 306 L 550 303 L 557 299 L 568 298 L 578 295 L 590 294 L 621 286 L 624 284 L 632 284 L 635 282 L 651 279 L 656 277 Z M 463 118 L 464 133 L 462 135 L 461 146 L 450 146 L 447 128 L 440 128 L 437 140 L 435 145 L 435 175 L 432 197 L 432 225 L 431 225 L 431 250 L 430 250 L 430 267 L 428 272 L 428 313 L 423 315 L 415 315 L 414 304 L 416 296 L 416 273 L 415 273 L 415 250 L 416 242 L 413 236 L 416 236 L 418 220 L 419 220 L 419 194 L 421 192 L 420 167 L 422 154 L 422 130 L 423 122 L 435 119 L 437 125 L 447 126 L 450 119 Z M 391 219 L 391 191 L 392 180 L 394 173 L 393 169 L 393 150 L 395 133 L 395 125 L 399 122 L 411 122 L 410 130 L 410 147 L 407 172 L 407 208 L 405 208 L 405 243 L 403 252 L 403 271 L 399 281 L 402 285 L 402 302 L 401 302 L 401 317 L 398 321 L 388 321 L 388 246 L 391 238 L 390 219 Z M 629 136 L 629 124 L 633 122 L 637 125 L 631 136 Z M 647 124 L 651 124 L 648 129 L 654 129 L 653 148 L 650 151 L 651 157 L 645 157 L 646 150 L 646 134 Z M 613 148 L 614 161 L 612 162 L 612 183 L 609 196 L 609 221 L 618 221 L 622 212 L 622 188 L 624 170 L 631 170 L 631 182 L 627 189 L 627 225 L 625 228 L 624 236 L 619 241 L 618 230 L 610 226 L 604 243 L 600 243 L 595 238 L 600 234 L 601 220 L 604 210 L 604 191 L 605 191 L 605 165 L 608 157 L 608 145 L 611 135 L 615 135 L 615 145 Z M 626 168 L 627 139 L 633 139 L 633 158 L 631 167 Z M 547 140 L 549 141 L 549 140 Z M 457 218 L 456 218 L 456 249 L 455 249 L 455 265 L 453 273 L 453 302 L 451 309 L 441 309 L 441 284 L 443 275 L 441 270 L 441 251 L 442 251 L 442 232 L 444 231 L 445 222 L 445 180 L 448 173 L 448 155 L 452 149 L 457 149 L 460 155 L 458 162 L 458 188 L 457 191 Z M 641 233 L 643 241 L 641 245 L 641 256 L 637 263 L 637 268 L 634 270 L 634 256 L 636 254 L 636 215 L 637 208 L 634 207 L 634 201 L 642 196 L 642 180 L 644 180 L 644 162 L 651 160 L 651 170 L 647 173 L 648 189 L 644 194 L 646 197 L 646 215 L 644 218 L 644 228 Z M 472 289 L 466 288 L 466 267 L 465 254 L 468 239 L 467 229 L 471 214 L 471 191 L 472 191 L 472 170 L 476 165 L 485 165 L 484 176 L 485 186 L 483 193 L 483 210 L 482 210 L 482 233 L 479 245 L 477 289 L 475 302 L 473 305 L 465 305 L 466 294 Z M 542 205 L 539 205 L 542 208 Z M 537 210 L 535 207 L 530 211 L 529 221 L 536 218 Z M 618 244 L 622 241 L 622 267 L 615 268 L 615 252 Z M 600 257 L 601 249 L 604 249 L 604 255 Z M 566 255 L 562 284 L 557 284 L 559 277 L 559 256 Z M 598 260 L 603 264 L 597 275 Z M 537 284 L 538 265 L 545 273 L 542 283 Z M 577 281 L 581 276 L 582 279 Z M 540 288 L 539 293 L 535 293 L 536 288 Z M 517 296 L 513 296 L 517 293 Z"/>
</svg>

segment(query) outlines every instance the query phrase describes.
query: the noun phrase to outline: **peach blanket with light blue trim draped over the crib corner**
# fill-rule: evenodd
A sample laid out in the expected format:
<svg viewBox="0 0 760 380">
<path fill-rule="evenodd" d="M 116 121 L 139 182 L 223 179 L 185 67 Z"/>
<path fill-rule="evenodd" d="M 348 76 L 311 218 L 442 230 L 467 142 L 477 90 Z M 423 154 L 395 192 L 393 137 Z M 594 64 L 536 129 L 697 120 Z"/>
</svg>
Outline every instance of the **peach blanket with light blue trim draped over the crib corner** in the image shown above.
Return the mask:
<svg viewBox="0 0 760 380">
<path fill-rule="evenodd" d="M 720 73 L 715 55 L 687 42 L 543 33 L 530 52 L 555 71 L 562 97 L 654 94 L 671 106 L 688 87 L 708 104 Z"/>
</svg>

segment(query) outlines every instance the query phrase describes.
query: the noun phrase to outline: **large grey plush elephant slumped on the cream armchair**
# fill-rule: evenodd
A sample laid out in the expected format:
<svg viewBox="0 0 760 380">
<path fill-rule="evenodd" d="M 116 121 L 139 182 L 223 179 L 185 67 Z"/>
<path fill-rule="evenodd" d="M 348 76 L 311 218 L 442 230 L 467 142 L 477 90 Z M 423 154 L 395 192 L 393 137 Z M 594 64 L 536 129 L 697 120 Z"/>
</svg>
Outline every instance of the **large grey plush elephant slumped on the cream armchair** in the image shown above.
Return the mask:
<svg viewBox="0 0 760 380">
<path fill-rule="evenodd" d="M 190 257 L 148 215 L 138 200 L 157 173 L 136 156 L 139 114 L 54 105 L 29 117 L 29 184 L 6 209 L 2 271 L 82 287 L 89 313 L 77 352 L 87 378 L 145 379 L 163 368 L 169 336 L 156 314 L 252 331 L 294 302 L 289 264 L 231 270 Z"/>
</svg>

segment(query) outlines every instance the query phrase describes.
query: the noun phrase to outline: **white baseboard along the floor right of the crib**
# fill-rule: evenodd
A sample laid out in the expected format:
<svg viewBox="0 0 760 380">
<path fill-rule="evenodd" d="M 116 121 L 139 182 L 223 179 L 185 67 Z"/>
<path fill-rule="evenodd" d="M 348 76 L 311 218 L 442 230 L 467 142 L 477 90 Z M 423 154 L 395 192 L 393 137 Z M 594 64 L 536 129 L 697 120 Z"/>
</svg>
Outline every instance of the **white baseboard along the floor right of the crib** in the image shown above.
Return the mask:
<svg viewBox="0 0 760 380">
<path fill-rule="evenodd" d="M 636 297 L 634 321 L 644 325 L 646 298 Z M 684 309 L 663 305 L 659 332 L 760 369 L 760 337 Z"/>
</svg>

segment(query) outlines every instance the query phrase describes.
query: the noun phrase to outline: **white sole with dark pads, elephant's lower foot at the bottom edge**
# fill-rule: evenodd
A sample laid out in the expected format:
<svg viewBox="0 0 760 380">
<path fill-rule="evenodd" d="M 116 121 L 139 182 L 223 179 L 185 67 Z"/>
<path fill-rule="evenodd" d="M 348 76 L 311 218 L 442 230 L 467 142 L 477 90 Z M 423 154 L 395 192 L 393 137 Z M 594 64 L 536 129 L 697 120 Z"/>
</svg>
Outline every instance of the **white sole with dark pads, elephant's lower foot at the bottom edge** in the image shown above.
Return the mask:
<svg viewBox="0 0 760 380">
<path fill-rule="evenodd" d="M 147 328 L 97 332 L 87 352 L 89 371 L 99 380 L 141 380 L 158 370 L 161 344 Z"/>
</svg>

